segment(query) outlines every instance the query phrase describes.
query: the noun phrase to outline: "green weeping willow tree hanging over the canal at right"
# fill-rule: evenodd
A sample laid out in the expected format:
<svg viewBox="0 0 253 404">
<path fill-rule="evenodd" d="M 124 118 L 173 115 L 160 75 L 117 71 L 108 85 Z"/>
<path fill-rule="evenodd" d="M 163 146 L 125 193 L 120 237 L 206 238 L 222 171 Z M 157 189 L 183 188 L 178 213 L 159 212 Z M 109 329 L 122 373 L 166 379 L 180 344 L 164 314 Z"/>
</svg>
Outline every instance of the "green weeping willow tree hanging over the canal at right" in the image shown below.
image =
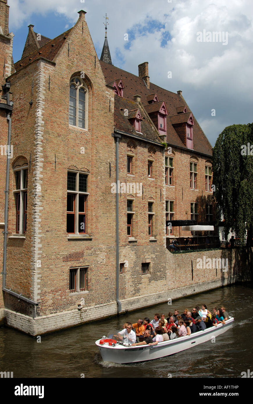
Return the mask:
<svg viewBox="0 0 253 404">
<path fill-rule="evenodd" d="M 217 222 L 221 213 L 224 231 L 236 232 L 240 244 L 253 237 L 253 124 L 228 126 L 213 149 L 213 184 Z"/>
</svg>

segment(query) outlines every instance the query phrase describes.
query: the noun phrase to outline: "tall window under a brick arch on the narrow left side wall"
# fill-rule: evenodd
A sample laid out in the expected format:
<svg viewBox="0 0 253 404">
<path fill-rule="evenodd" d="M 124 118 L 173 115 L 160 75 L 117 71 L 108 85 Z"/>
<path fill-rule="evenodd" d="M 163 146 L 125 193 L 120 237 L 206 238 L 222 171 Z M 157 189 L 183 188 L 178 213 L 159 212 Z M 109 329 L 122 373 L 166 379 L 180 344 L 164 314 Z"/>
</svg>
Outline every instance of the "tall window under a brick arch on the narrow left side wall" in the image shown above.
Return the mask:
<svg viewBox="0 0 253 404">
<path fill-rule="evenodd" d="M 15 189 L 13 190 L 16 206 L 16 233 L 23 234 L 27 229 L 27 184 L 28 166 L 14 168 Z"/>
</svg>

